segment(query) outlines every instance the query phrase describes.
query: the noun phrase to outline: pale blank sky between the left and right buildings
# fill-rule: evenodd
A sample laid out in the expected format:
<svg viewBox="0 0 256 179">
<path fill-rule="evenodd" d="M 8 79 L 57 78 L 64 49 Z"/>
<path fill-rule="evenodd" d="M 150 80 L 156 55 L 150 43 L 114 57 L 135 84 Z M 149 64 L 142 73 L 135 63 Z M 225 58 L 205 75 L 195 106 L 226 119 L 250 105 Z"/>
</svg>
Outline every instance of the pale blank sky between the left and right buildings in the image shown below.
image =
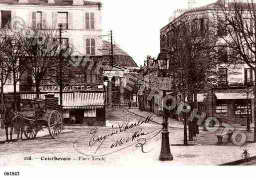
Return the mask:
<svg viewBox="0 0 256 179">
<path fill-rule="evenodd" d="M 188 0 L 100 0 L 102 34 L 113 31 L 113 39 L 134 61 L 144 64 L 147 55 L 160 52 L 160 29 L 177 8 L 188 8 Z M 196 0 L 197 6 L 217 0 Z"/>
</svg>

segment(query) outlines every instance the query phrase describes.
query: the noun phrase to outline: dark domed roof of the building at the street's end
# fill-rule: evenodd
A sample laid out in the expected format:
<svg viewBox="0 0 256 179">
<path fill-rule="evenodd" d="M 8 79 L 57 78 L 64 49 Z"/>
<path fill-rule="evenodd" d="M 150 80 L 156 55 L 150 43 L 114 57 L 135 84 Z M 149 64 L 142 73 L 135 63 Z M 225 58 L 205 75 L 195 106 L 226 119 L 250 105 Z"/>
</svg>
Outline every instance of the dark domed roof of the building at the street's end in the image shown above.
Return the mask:
<svg viewBox="0 0 256 179">
<path fill-rule="evenodd" d="M 111 43 L 103 40 L 101 49 L 104 60 L 111 61 Z M 138 67 L 133 58 L 117 45 L 113 45 L 114 64 L 123 67 Z"/>
</svg>

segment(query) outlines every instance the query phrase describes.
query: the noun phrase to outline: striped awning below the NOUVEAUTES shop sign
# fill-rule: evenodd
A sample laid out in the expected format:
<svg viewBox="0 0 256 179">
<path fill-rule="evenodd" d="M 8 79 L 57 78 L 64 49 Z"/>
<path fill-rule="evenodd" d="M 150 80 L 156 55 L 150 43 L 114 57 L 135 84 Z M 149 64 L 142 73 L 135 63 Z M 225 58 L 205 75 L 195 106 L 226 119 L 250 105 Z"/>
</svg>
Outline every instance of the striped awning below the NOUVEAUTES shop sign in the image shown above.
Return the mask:
<svg viewBox="0 0 256 179">
<path fill-rule="evenodd" d="M 59 93 L 54 94 L 54 97 L 59 99 Z M 41 99 L 45 99 L 44 94 L 40 94 Z M 21 93 L 21 99 L 34 99 L 35 93 Z M 60 104 L 60 102 L 58 102 Z M 71 92 L 63 93 L 63 108 L 64 109 L 94 109 L 104 108 L 105 93 L 104 92 Z"/>
</svg>

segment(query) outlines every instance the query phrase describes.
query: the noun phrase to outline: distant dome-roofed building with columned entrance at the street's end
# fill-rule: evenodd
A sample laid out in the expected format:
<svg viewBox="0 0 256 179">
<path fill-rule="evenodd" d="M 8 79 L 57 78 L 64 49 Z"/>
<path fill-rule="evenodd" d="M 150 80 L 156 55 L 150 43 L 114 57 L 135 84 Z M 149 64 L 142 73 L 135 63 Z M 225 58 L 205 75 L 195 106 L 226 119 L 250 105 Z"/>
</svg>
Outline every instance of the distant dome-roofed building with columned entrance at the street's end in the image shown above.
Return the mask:
<svg viewBox="0 0 256 179">
<path fill-rule="evenodd" d="M 103 41 L 103 59 L 107 64 L 111 64 L 111 43 Z M 136 86 L 133 90 L 124 88 L 125 75 L 136 75 L 138 66 L 131 56 L 117 45 L 113 47 L 113 68 L 111 66 L 104 67 L 104 83 L 106 86 L 107 104 L 111 106 L 124 106 L 131 100 L 137 103 L 138 97 L 136 94 Z"/>
</svg>

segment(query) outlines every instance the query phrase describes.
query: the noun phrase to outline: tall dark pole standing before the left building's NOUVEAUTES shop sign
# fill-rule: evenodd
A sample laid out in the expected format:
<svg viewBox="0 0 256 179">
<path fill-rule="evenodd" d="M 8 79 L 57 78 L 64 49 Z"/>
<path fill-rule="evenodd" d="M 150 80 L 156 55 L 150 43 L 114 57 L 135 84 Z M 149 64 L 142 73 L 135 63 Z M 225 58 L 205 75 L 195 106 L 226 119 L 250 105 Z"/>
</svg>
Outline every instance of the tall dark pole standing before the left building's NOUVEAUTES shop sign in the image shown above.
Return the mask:
<svg viewBox="0 0 256 179">
<path fill-rule="evenodd" d="M 62 24 L 59 24 L 59 102 L 62 106 L 63 82 L 62 82 Z"/>
</svg>

